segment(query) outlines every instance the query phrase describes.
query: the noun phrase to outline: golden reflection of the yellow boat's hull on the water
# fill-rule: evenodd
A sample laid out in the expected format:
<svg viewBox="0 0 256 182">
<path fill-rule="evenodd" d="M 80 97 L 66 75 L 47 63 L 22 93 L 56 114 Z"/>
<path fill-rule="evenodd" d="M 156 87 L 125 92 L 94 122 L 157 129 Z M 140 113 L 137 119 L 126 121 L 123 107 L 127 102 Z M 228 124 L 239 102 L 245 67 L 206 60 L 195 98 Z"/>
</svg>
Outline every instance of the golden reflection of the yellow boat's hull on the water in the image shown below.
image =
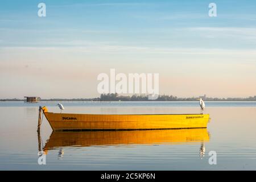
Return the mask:
<svg viewBox="0 0 256 182">
<path fill-rule="evenodd" d="M 207 129 L 132 131 L 53 131 L 43 150 L 58 147 L 89 147 L 129 144 L 183 144 L 208 142 Z"/>
</svg>

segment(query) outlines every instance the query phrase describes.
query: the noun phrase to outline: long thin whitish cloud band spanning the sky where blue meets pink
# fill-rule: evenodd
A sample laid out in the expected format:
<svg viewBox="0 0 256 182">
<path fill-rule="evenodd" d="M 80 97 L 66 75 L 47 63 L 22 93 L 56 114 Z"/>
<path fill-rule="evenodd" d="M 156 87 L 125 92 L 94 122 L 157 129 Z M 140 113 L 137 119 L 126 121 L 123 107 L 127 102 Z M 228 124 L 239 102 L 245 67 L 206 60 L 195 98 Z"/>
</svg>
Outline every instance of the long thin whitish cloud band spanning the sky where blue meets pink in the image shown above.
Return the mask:
<svg viewBox="0 0 256 182">
<path fill-rule="evenodd" d="M 77 44 L 77 43 L 76 43 Z M 70 45 L 70 43 L 69 43 Z M 67 47 L 2 47 L 0 51 L 75 51 L 75 52 L 105 52 L 105 53 L 150 53 L 150 54 L 175 54 L 175 55 L 250 55 L 256 56 L 255 49 L 216 49 L 216 48 L 155 48 L 139 46 L 121 46 L 110 44 L 88 44 L 87 46 Z M 1 52 L 0 52 L 1 53 Z"/>
</svg>

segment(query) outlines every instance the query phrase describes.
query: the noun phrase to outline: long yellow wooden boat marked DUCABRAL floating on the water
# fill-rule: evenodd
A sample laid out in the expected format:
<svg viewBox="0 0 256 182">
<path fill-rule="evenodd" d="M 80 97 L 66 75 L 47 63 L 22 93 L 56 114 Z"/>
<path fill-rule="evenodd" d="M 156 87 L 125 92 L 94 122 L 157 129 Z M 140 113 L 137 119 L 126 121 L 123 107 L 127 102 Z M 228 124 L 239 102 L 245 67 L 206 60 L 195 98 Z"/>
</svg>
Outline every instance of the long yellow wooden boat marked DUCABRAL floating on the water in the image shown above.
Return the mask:
<svg viewBox="0 0 256 182">
<path fill-rule="evenodd" d="M 66 114 L 42 107 L 56 130 L 148 130 L 206 128 L 209 114 Z"/>
</svg>

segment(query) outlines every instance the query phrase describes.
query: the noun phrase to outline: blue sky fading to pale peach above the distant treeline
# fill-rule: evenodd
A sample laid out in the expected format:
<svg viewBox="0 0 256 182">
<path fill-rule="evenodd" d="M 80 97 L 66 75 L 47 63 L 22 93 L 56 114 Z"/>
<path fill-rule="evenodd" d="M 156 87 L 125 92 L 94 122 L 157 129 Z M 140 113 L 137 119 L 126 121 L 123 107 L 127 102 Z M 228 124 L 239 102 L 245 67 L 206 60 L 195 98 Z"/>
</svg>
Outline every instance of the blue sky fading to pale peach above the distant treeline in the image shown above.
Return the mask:
<svg viewBox="0 0 256 182">
<path fill-rule="evenodd" d="M 46 4 L 46 17 L 38 4 Z M 208 15 L 209 3 L 217 17 Z M 0 98 L 93 98 L 100 73 L 159 93 L 256 96 L 255 1 L 1 1 Z"/>
</svg>

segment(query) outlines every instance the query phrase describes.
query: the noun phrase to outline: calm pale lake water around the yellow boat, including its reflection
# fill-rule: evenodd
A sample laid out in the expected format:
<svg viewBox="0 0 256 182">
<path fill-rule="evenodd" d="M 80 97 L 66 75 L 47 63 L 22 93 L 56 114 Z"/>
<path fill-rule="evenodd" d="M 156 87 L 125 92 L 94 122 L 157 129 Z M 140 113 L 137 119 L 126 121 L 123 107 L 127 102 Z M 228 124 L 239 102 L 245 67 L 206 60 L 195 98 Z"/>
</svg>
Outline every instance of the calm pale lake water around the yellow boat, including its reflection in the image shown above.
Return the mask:
<svg viewBox="0 0 256 182">
<path fill-rule="evenodd" d="M 56 103 L 0 102 L 1 170 L 256 170 L 256 102 L 205 102 L 207 129 L 52 133 L 43 118 L 38 137 L 39 105 L 60 112 Z M 65 113 L 200 113 L 198 102 L 61 103 Z"/>
</svg>

